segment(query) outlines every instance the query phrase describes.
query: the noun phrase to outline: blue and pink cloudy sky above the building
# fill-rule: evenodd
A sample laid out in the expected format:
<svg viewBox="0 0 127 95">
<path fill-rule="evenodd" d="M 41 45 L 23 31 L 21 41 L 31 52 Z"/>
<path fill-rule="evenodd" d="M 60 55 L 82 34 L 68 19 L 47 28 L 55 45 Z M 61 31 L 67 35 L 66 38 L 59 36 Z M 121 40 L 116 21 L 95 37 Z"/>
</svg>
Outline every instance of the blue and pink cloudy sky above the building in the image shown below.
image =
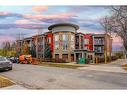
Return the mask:
<svg viewBox="0 0 127 95">
<path fill-rule="evenodd" d="M 0 6 L 0 45 L 16 40 L 19 33 L 26 37 L 38 30 L 47 32 L 49 25 L 61 22 L 79 25 L 78 32 L 104 33 L 99 21 L 110 14 L 108 6 Z M 114 37 L 113 49 L 120 46 Z"/>
</svg>

